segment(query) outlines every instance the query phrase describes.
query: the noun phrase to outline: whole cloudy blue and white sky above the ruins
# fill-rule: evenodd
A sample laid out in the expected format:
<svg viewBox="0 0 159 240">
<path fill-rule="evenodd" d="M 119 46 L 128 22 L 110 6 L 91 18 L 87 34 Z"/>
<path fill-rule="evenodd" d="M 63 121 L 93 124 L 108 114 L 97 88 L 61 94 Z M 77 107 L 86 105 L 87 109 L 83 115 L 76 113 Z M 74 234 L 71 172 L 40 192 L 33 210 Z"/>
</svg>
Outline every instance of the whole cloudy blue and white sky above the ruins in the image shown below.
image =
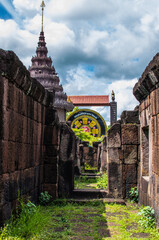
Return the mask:
<svg viewBox="0 0 159 240">
<path fill-rule="evenodd" d="M 41 30 L 41 0 L 0 0 L 0 48 L 28 67 Z M 138 102 L 132 88 L 159 51 L 157 0 L 45 0 L 44 32 L 68 95 L 110 95 L 118 116 Z M 109 121 L 109 108 L 98 108 Z"/>
</svg>

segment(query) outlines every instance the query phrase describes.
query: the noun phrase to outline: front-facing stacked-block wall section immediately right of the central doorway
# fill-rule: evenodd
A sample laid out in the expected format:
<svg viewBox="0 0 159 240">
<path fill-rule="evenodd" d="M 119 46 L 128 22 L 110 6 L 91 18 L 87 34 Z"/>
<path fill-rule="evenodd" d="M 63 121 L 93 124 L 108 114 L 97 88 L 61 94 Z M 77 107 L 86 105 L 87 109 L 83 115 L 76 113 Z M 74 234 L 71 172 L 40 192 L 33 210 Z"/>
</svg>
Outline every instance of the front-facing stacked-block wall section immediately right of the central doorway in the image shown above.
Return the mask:
<svg viewBox="0 0 159 240">
<path fill-rule="evenodd" d="M 108 192 L 115 198 L 125 198 L 137 186 L 138 146 L 138 110 L 125 111 L 107 133 Z"/>
</svg>

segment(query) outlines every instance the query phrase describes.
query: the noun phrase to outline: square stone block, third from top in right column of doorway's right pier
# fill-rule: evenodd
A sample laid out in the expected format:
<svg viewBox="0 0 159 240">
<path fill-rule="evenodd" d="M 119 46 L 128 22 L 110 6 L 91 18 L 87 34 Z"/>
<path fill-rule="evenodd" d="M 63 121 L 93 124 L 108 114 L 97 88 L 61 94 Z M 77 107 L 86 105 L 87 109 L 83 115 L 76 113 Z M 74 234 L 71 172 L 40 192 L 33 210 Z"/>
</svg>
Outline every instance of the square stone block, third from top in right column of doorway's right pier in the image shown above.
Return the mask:
<svg viewBox="0 0 159 240">
<path fill-rule="evenodd" d="M 123 159 L 125 164 L 134 164 L 138 159 L 137 145 L 123 145 Z"/>
</svg>

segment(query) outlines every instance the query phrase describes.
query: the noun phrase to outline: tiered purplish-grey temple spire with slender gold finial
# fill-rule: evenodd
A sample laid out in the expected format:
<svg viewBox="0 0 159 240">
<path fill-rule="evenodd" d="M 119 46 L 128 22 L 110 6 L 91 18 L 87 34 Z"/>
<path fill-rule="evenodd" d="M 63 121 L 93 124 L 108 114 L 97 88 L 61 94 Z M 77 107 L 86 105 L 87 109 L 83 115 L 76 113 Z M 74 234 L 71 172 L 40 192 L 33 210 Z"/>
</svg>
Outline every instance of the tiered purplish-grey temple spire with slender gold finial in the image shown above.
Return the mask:
<svg viewBox="0 0 159 240">
<path fill-rule="evenodd" d="M 74 106 L 67 101 L 67 95 L 63 92 L 63 87 L 60 85 L 60 79 L 52 65 L 51 57 L 48 57 L 48 50 L 46 47 L 45 36 L 43 31 L 43 11 L 44 1 L 42 7 L 42 29 L 40 32 L 38 47 L 36 49 L 36 56 L 32 57 L 32 66 L 29 67 L 31 77 L 36 78 L 48 91 L 55 93 L 55 100 L 53 107 L 57 110 L 59 121 L 66 121 L 66 111 L 72 111 Z"/>
</svg>

